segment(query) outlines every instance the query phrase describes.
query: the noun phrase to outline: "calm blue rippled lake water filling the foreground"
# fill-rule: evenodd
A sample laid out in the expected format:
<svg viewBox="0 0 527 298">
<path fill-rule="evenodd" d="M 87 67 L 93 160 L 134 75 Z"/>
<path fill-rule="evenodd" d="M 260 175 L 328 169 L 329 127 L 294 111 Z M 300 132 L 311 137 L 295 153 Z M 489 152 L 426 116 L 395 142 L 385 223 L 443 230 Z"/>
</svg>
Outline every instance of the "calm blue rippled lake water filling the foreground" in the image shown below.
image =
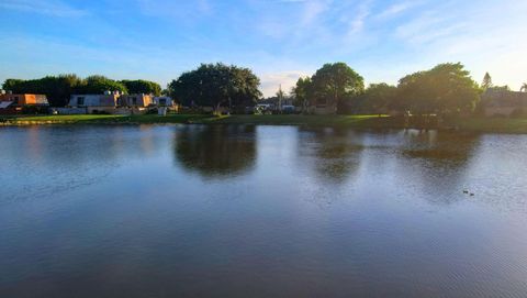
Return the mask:
<svg viewBox="0 0 527 298">
<path fill-rule="evenodd" d="M 527 297 L 526 150 L 526 135 L 1 128 L 0 297 Z"/>
</svg>

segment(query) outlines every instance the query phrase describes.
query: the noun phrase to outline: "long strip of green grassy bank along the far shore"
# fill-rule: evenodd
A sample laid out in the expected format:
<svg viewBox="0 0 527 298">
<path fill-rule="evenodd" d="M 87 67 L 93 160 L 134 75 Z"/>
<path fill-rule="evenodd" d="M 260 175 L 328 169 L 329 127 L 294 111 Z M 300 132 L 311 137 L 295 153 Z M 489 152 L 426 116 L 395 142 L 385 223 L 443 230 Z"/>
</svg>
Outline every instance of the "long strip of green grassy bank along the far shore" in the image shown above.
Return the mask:
<svg viewBox="0 0 527 298">
<path fill-rule="evenodd" d="M 335 126 L 367 130 L 439 130 L 480 133 L 527 134 L 527 118 L 459 118 L 428 126 L 405 125 L 401 118 L 388 115 L 247 115 L 235 114 L 212 117 L 203 114 L 157 114 L 114 115 L 23 115 L 1 117 L 0 126 L 31 125 L 141 125 L 141 124 L 246 124 L 246 125 L 294 125 L 294 126 Z"/>
</svg>

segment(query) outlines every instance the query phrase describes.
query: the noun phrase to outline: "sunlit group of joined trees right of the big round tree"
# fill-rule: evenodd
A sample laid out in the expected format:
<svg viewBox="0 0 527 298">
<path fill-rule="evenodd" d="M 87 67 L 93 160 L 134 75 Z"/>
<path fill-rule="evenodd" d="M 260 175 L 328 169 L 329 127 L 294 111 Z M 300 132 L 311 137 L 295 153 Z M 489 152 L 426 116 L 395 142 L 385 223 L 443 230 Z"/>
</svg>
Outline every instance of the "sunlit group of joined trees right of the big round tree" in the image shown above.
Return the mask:
<svg viewBox="0 0 527 298">
<path fill-rule="evenodd" d="M 345 63 L 326 64 L 312 77 L 296 81 L 296 106 L 329 104 L 339 113 L 466 114 L 474 111 L 482 88 L 460 63 L 407 75 L 397 86 L 385 82 L 365 88 L 363 78 Z"/>
</svg>

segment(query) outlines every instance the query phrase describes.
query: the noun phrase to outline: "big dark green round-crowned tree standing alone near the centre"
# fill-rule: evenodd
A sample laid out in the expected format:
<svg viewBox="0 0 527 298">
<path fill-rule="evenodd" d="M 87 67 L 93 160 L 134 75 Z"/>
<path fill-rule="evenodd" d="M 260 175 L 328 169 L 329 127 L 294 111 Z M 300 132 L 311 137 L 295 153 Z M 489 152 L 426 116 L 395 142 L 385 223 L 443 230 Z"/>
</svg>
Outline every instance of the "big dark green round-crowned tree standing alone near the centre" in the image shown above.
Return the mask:
<svg viewBox="0 0 527 298">
<path fill-rule="evenodd" d="M 224 64 L 202 64 L 172 80 L 169 92 L 186 106 L 240 107 L 260 98 L 260 80 L 248 68 Z"/>
</svg>

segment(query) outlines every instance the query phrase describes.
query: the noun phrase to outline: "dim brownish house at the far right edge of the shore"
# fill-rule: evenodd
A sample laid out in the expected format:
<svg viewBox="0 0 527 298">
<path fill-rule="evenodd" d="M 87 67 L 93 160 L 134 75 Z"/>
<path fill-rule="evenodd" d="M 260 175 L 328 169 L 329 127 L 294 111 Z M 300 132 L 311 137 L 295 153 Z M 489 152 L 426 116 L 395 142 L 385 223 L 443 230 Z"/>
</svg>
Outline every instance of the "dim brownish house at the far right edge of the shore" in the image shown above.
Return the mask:
<svg viewBox="0 0 527 298">
<path fill-rule="evenodd" d="M 490 88 L 482 96 L 485 115 L 512 115 L 527 112 L 527 92 Z"/>
</svg>

